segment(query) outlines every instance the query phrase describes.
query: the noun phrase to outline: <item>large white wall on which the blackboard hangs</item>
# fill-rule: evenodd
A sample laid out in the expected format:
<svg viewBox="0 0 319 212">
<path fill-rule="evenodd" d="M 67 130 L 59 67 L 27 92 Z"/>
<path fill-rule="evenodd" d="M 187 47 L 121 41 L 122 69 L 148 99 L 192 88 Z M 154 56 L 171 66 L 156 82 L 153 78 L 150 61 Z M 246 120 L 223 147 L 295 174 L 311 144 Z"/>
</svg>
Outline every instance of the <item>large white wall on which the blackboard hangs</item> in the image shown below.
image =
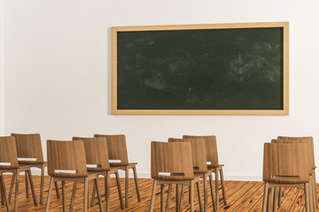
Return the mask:
<svg viewBox="0 0 319 212">
<path fill-rule="evenodd" d="M 317 0 L 6 0 L 5 133 L 41 133 L 44 148 L 125 133 L 140 176 L 152 140 L 216 134 L 225 175 L 261 179 L 263 143 L 276 135 L 313 135 L 319 154 L 318 9 Z M 268 21 L 291 24 L 290 116 L 110 114 L 110 27 Z"/>
</svg>

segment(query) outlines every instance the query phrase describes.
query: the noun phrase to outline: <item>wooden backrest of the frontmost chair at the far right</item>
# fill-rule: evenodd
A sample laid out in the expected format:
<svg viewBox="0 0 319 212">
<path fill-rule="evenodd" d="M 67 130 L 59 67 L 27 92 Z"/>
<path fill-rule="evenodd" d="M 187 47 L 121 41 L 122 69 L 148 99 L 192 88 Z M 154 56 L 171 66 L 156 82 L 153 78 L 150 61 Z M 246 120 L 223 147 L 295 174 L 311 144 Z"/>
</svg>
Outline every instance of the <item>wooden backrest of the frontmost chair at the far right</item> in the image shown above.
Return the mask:
<svg viewBox="0 0 319 212">
<path fill-rule="evenodd" d="M 307 183 L 311 170 L 307 148 L 306 143 L 265 143 L 263 180 L 280 184 Z"/>
</svg>

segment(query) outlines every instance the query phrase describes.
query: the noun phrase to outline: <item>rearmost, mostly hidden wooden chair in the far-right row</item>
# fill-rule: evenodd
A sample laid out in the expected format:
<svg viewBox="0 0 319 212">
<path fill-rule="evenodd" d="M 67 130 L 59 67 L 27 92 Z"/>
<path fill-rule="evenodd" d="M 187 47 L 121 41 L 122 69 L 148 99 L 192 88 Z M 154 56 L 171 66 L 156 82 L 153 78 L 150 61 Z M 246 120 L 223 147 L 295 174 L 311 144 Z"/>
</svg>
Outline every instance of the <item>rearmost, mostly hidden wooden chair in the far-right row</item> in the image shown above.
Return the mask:
<svg viewBox="0 0 319 212">
<path fill-rule="evenodd" d="M 278 136 L 277 140 L 289 140 L 290 142 L 300 142 L 300 141 L 305 141 L 309 144 L 309 160 L 311 161 L 311 165 L 313 168 L 313 186 L 314 186 L 314 193 L 315 193 L 315 207 L 318 208 L 318 197 L 316 195 L 317 190 L 316 190 L 316 180 L 315 180 L 315 148 L 314 148 L 314 139 L 311 136 L 307 137 L 288 137 L 288 136 Z"/>
</svg>

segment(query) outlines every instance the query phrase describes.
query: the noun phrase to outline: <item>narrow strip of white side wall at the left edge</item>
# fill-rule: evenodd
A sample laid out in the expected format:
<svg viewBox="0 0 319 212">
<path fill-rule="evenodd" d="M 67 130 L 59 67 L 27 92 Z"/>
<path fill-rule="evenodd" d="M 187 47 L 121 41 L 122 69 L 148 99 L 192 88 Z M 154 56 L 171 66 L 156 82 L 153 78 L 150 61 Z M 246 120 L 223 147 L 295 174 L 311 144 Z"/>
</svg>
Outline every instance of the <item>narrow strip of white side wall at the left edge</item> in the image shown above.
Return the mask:
<svg viewBox="0 0 319 212">
<path fill-rule="evenodd" d="M 4 134 L 4 0 L 0 0 L 0 134 Z"/>
</svg>

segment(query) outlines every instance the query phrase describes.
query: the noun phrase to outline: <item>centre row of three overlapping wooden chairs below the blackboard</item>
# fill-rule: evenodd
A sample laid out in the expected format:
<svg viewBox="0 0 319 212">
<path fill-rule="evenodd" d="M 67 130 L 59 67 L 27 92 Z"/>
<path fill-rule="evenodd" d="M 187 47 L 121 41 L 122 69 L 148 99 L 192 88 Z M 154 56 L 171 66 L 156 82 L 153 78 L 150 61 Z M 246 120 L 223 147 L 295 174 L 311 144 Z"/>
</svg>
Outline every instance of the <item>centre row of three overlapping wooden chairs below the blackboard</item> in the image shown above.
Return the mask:
<svg viewBox="0 0 319 212">
<path fill-rule="evenodd" d="M 209 178 L 214 211 L 219 210 L 218 171 L 221 175 L 222 197 L 227 205 L 222 172 L 218 162 L 215 136 L 183 135 L 183 139 L 168 139 L 168 142 L 152 141 L 151 174 L 153 180 L 150 211 L 154 209 L 156 186 L 160 185 L 160 210 L 168 211 L 172 185 L 176 185 L 176 211 L 183 208 L 184 186 L 189 186 L 191 211 L 194 211 L 194 186 L 197 185 L 200 211 L 208 211 L 207 178 Z M 215 191 L 213 186 L 215 175 Z M 204 179 L 204 207 L 201 200 L 199 179 Z M 164 186 L 168 184 L 167 205 L 164 208 Z M 182 186 L 180 195 L 179 186 Z"/>
</svg>

